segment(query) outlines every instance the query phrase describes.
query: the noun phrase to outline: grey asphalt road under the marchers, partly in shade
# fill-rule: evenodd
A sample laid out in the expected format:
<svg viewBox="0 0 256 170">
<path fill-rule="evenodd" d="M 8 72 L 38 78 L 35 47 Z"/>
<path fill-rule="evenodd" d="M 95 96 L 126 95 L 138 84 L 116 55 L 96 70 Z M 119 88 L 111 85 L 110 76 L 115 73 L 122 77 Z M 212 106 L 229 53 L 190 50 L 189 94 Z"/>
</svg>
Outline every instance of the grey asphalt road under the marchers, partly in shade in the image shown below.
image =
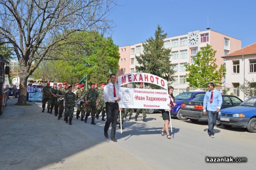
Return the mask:
<svg viewBox="0 0 256 170">
<path fill-rule="evenodd" d="M 172 139 L 161 136 L 160 113 L 147 114 L 148 122 L 125 119 L 123 133 L 105 138 L 105 122 L 91 118 L 84 123 L 74 115 L 69 125 L 41 112 L 41 102 L 15 106 L 10 99 L 0 116 L 1 170 L 188 170 L 255 169 L 256 133 L 246 128 L 215 127 L 207 134 L 207 122 L 172 119 Z M 134 117 L 135 115 L 133 115 Z M 110 128 L 111 129 L 111 128 Z M 110 130 L 108 131 L 110 136 Z M 243 163 L 207 163 L 206 157 L 246 158 Z"/>
</svg>

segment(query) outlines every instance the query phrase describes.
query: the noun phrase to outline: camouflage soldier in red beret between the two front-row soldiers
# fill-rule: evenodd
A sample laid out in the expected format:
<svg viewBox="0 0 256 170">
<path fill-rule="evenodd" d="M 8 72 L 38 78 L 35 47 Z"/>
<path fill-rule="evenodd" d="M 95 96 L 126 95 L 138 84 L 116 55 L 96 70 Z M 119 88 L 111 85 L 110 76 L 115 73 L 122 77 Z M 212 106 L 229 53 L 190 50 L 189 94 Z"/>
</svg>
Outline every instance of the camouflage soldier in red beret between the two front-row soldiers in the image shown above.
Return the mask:
<svg viewBox="0 0 256 170">
<path fill-rule="evenodd" d="M 84 84 L 80 85 L 80 89 L 76 91 L 76 100 L 77 100 L 77 111 L 76 111 L 76 119 L 79 118 L 79 114 L 81 112 L 81 121 L 84 121 L 85 109 L 84 109 L 84 101 L 79 102 L 78 100 L 86 94 L 84 91 Z"/>
</svg>

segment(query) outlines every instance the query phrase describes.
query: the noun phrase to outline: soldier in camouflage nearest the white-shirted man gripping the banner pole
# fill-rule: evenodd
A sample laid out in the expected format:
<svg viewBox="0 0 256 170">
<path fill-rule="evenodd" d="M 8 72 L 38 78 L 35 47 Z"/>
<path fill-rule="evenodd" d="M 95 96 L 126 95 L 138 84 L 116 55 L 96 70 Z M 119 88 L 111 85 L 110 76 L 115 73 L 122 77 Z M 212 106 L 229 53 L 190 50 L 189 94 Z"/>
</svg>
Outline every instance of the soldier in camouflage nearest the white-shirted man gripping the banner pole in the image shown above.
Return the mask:
<svg viewBox="0 0 256 170">
<path fill-rule="evenodd" d="M 103 99 L 103 91 L 105 87 L 105 83 L 100 84 L 100 89 L 98 91 L 98 97 L 99 97 L 99 107 L 97 108 L 97 113 L 96 113 L 96 119 L 99 119 L 99 113 L 102 113 L 102 121 L 105 121 L 105 113 L 106 113 L 106 104 Z"/>
</svg>

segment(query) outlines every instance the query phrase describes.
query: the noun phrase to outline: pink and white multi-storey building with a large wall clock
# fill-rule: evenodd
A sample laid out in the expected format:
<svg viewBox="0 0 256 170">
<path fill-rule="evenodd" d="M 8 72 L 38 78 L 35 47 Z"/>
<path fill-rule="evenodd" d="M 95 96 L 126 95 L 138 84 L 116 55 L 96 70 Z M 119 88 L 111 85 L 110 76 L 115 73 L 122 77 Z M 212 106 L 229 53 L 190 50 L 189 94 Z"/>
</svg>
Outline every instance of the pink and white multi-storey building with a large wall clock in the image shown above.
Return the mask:
<svg viewBox="0 0 256 170">
<path fill-rule="evenodd" d="M 216 64 L 224 64 L 224 59 L 221 58 L 233 51 L 241 49 L 241 40 L 218 33 L 212 30 L 206 31 L 190 31 L 188 34 L 169 37 L 164 40 L 164 48 L 171 48 L 170 61 L 175 65 L 176 73 L 174 81 L 169 82 L 175 88 L 186 88 L 185 64 L 195 62 L 195 57 L 198 51 L 204 48 L 207 43 L 216 50 Z M 143 53 L 142 43 L 119 47 L 119 75 L 136 72 L 135 66 L 138 62 L 135 58 Z"/>
</svg>

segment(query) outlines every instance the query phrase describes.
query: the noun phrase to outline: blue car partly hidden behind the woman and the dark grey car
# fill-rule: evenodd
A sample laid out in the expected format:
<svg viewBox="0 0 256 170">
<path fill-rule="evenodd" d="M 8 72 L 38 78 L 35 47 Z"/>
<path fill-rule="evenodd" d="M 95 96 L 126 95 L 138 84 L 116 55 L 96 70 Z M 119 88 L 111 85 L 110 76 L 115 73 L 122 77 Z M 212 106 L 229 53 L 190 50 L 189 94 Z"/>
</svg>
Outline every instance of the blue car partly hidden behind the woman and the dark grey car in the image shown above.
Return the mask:
<svg viewBox="0 0 256 170">
<path fill-rule="evenodd" d="M 205 94 L 205 91 L 190 91 L 190 92 L 183 92 L 177 96 L 175 96 L 175 103 L 176 105 L 172 109 L 172 116 L 177 116 L 180 120 L 186 120 L 184 116 L 180 115 L 180 107 L 182 102 L 190 101 L 195 99 L 195 97 Z M 155 111 L 159 111 L 157 109 L 147 109 L 147 113 L 154 113 Z"/>
</svg>

